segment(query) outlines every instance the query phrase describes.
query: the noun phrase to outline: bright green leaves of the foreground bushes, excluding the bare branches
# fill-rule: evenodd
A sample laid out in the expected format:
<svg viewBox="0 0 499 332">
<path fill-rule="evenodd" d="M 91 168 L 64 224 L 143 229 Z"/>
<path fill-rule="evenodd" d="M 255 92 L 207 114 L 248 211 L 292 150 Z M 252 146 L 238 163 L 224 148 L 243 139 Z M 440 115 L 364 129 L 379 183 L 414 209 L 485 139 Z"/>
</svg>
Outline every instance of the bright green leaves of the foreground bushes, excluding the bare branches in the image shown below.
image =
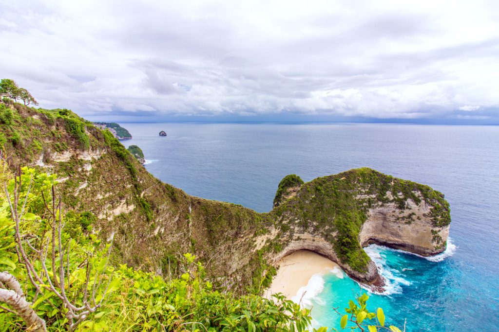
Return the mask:
<svg viewBox="0 0 499 332">
<path fill-rule="evenodd" d="M 32 169 L 23 168 L 21 177 L 23 185 L 18 190 L 23 194 L 27 194 L 30 179 L 34 179 L 26 201 L 28 212 L 24 214 L 21 233 L 23 237 L 33 239 L 32 245 L 37 247 L 39 244 L 35 239 L 46 236 L 48 226 L 44 219 L 45 205 L 41 193 L 51 188 L 56 176 L 36 174 Z M 4 173 L 2 179 L 8 182 L 8 190 L 12 191 L 12 180 L 8 180 L 8 174 Z M 13 221 L 4 196 L 1 202 L 0 268 L 9 271 L 18 280 L 26 280 L 25 266 L 18 262 L 15 251 Z M 256 295 L 238 297 L 214 290 L 206 279 L 204 267 L 191 254 L 185 254 L 177 260 L 181 277 L 170 281 L 126 265 L 109 267 L 105 259 L 108 246 L 98 240 L 93 232 L 89 232 L 95 216 L 89 212 L 68 212 L 61 218 L 63 224 L 71 228 L 69 233 L 64 231 L 61 238 L 61 243 L 65 243 L 64 248 L 71 253 L 68 261 L 63 262 L 71 271 L 66 283 L 66 294 L 77 304 L 84 296 L 85 291 L 81 287 L 85 285 L 85 280 L 92 279 L 97 271 L 105 270 L 107 276 L 106 282 L 97 286 L 95 295 L 98 301 L 107 288 L 108 297 L 98 311 L 90 314 L 78 326 L 77 331 L 308 331 L 311 323 L 309 310 L 301 309 L 280 294 L 267 300 Z M 46 240 L 49 243 L 51 241 L 50 237 Z M 48 249 L 50 251 L 50 246 Z M 55 250 L 57 256 L 57 240 Z M 32 256 L 35 269 L 39 269 L 41 274 L 40 258 L 37 258 L 36 252 L 29 251 L 29 255 Z M 85 264 L 95 267 L 90 276 L 85 275 Z M 57 259 L 51 261 L 46 258 L 45 265 L 49 273 L 59 269 Z M 56 294 L 47 291 L 48 285 L 42 285 L 43 294 L 38 295 L 29 283 L 25 286 L 27 300 L 32 301 L 33 309 L 46 321 L 48 331 L 66 330 L 67 309 Z M 87 292 L 93 292 L 92 287 Z M 0 321 L 0 331 L 24 330 L 15 314 L 1 308 Z M 325 332 L 327 329 L 314 331 Z"/>
</svg>

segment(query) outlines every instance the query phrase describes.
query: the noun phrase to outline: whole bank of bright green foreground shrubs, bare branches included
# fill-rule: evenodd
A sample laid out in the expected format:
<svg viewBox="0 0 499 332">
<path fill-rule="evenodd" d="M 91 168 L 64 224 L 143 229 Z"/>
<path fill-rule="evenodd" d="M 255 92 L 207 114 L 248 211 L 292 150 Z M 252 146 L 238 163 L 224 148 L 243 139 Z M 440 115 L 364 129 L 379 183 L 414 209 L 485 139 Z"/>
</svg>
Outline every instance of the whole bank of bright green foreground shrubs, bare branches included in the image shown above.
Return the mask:
<svg viewBox="0 0 499 332">
<path fill-rule="evenodd" d="M 0 331 L 308 329 L 310 311 L 283 296 L 267 300 L 214 290 L 191 254 L 180 259 L 180 278 L 169 280 L 109 265 L 111 244 L 99 239 L 95 217 L 89 212 L 64 214 L 53 205 L 55 175 L 23 168 L 12 176 L 1 162 L 0 179 L 7 191 L 0 194 L 0 269 L 8 272 L 0 279 L 11 290 L 0 289 L 0 302 L 11 309 L 0 306 Z M 23 282 L 24 291 L 17 291 L 10 277 Z"/>
</svg>

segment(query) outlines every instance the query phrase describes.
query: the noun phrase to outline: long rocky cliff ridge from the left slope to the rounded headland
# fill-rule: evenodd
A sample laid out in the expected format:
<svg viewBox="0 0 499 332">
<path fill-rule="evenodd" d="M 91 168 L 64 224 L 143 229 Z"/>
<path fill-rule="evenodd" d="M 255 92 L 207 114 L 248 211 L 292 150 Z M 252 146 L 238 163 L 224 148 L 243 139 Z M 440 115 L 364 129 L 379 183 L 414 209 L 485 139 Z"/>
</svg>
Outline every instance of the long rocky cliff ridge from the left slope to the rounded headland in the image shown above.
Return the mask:
<svg viewBox="0 0 499 332">
<path fill-rule="evenodd" d="M 248 293 L 268 285 L 279 258 L 299 249 L 376 283 L 376 266 L 362 246 L 376 242 L 422 255 L 446 246 L 449 205 L 428 186 L 367 168 L 308 183 L 293 176 L 280 186 L 275 208 L 258 214 L 162 183 L 111 132 L 72 112 L 11 110 L 12 122 L 0 123 L 10 166 L 58 174 L 64 210 L 76 220 L 94 216 L 92 231 L 114 237 L 115 263 L 178 275 L 181 255 L 192 252 L 215 287 Z"/>
</svg>

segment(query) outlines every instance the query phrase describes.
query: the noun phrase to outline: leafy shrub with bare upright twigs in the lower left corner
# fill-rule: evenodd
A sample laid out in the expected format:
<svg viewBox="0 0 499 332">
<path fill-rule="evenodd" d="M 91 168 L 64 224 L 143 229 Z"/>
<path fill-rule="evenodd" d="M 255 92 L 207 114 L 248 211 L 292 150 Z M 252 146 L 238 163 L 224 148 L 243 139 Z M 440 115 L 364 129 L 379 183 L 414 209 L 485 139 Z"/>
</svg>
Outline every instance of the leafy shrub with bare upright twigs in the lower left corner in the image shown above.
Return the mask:
<svg viewBox="0 0 499 332">
<path fill-rule="evenodd" d="M 11 309 L 0 307 L 21 318 L 29 331 L 45 332 L 46 323 L 37 312 L 39 305 L 47 302 L 50 311 L 65 318 L 65 328 L 74 331 L 106 298 L 112 279 L 108 268 L 111 245 L 105 251 L 79 247 L 63 231 L 66 219 L 61 198 L 55 194 L 55 175 L 35 176 L 29 168 L 18 169 L 13 175 L 0 153 L 0 178 L 4 202 L 0 230 L 12 234 L 14 240 L 0 248 L 1 263 L 12 270 L 0 273 L 0 303 Z M 33 214 L 33 207 L 42 213 Z M 37 226 L 45 230 L 33 232 Z M 4 251 L 9 247 L 15 254 Z M 22 287 L 14 276 L 14 271 L 19 271 L 17 263 L 24 267 L 22 273 L 17 272 L 26 280 Z"/>
</svg>

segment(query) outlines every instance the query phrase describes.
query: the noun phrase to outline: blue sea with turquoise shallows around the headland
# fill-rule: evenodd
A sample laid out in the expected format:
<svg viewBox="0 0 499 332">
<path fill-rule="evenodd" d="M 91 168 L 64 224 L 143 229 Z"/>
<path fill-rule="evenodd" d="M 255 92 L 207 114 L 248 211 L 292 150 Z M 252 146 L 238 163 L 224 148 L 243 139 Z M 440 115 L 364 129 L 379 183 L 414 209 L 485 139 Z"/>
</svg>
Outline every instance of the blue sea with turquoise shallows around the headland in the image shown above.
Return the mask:
<svg viewBox="0 0 499 332">
<path fill-rule="evenodd" d="M 407 331 L 499 331 L 499 126 L 408 124 L 122 123 L 146 168 L 188 194 L 268 212 L 279 181 L 371 167 L 428 184 L 451 204 L 451 245 L 428 260 L 366 250 L 389 280 L 371 294 L 387 322 Z M 160 130 L 167 137 L 158 135 Z M 358 294 L 348 277 L 323 276 L 310 300 L 316 324 L 339 327 L 331 307 Z"/>
</svg>

